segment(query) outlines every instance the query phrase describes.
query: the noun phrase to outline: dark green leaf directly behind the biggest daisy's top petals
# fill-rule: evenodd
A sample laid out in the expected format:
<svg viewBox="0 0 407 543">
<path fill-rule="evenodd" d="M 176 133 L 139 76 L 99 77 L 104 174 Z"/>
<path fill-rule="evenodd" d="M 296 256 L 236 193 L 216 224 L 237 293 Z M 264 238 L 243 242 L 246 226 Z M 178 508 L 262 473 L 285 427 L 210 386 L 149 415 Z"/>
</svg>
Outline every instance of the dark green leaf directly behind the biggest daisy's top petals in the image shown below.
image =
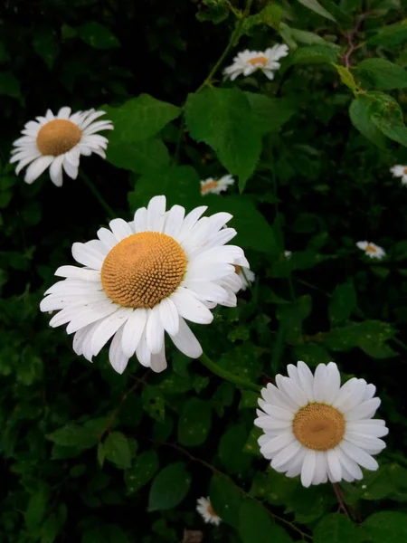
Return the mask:
<svg viewBox="0 0 407 543">
<path fill-rule="evenodd" d="M 130 209 L 147 205 L 157 194 L 166 196 L 167 208 L 184 205 L 190 211 L 204 204 L 199 177 L 191 166 L 166 167 L 139 177 L 134 190 L 128 193 Z"/>
</svg>

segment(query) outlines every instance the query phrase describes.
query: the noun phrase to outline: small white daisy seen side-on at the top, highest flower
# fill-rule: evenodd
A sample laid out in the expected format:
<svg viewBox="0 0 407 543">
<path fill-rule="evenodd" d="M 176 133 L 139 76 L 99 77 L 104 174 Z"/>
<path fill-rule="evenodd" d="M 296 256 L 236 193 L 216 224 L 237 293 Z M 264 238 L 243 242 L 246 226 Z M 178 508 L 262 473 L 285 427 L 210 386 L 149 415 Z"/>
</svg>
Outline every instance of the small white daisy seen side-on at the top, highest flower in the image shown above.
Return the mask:
<svg viewBox="0 0 407 543">
<path fill-rule="evenodd" d="M 239 52 L 233 59 L 231 66 L 224 69 L 226 78 L 235 80 L 239 75 L 251 75 L 253 71 L 261 70 L 270 80 L 274 79 L 274 71 L 279 70 L 279 59 L 289 54 L 289 47 L 284 43 L 276 44 L 266 51 L 246 51 Z"/>
</svg>

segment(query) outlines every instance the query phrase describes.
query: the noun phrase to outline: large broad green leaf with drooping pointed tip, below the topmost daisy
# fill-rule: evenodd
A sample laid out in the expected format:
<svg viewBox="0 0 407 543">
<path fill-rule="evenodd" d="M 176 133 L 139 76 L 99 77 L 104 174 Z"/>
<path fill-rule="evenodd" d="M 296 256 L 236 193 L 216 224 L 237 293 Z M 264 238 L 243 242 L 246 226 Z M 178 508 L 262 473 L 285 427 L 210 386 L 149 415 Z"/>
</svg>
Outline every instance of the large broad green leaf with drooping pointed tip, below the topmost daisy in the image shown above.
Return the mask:
<svg viewBox="0 0 407 543">
<path fill-rule="evenodd" d="M 189 94 L 185 121 L 191 136 L 212 147 L 222 165 L 239 176 L 242 192 L 261 151 L 260 132 L 245 93 L 213 87 Z"/>
</svg>

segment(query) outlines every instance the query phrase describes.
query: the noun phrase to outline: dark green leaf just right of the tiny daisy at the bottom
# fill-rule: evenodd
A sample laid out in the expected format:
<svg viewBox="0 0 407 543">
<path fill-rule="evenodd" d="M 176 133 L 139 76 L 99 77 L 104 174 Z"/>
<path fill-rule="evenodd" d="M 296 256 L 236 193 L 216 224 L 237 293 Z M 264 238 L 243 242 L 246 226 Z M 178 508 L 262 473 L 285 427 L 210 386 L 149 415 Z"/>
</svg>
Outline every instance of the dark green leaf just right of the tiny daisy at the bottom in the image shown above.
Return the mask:
<svg viewBox="0 0 407 543">
<path fill-rule="evenodd" d="M 213 510 L 221 519 L 237 528 L 243 494 L 232 480 L 224 475 L 213 475 L 209 486 Z"/>
</svg>

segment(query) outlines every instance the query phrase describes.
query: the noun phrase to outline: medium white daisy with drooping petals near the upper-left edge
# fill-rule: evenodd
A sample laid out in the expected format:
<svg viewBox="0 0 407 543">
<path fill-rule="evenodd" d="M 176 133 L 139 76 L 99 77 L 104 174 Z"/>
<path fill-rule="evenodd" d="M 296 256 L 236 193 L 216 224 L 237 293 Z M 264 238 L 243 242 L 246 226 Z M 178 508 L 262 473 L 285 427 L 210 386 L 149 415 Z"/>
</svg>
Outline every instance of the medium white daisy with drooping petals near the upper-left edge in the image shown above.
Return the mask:
<svg viewBox="0 0 407 543">
<path fill-rule="evenodd" d="M 96 120 L 105 111 L 77 111 L 71 115 L 71 108 L 61 108 L 57 115 L 51 110 L 45 117 L 30 120 L 22 130 L 23 137 L 14 141 L 10 162 L 17 162 L 15 173 L 27 167 L 25 183 L 33 183 L 47 167 L 56 186 L 62 186 L 62 171 L 71 179 L 78 176 L 80 155 L 96 153 L 105 158 L 108 138 L 97 132 L 111 130 L 109 120 Z"/>
</svg>

